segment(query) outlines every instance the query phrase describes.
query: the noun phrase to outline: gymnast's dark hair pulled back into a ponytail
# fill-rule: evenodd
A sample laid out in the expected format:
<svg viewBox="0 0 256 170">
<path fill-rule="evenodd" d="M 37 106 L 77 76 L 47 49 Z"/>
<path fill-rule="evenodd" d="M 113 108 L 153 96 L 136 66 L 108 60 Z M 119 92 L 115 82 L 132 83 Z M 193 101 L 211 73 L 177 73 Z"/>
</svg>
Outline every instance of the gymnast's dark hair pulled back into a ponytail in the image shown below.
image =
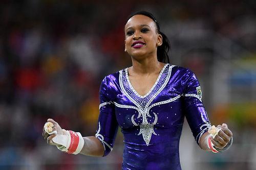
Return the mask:
<svg viewBox="0 0 256 170">
<path fill-rule="evenodd" d="M 160 34 L 163 37 L 162 45 L 157 47 L 157 59 L 158 59 L 158 61 L 163 62 L 163 63 L 170 63 L 169 56 L 168 56 L 168 51 L 170 50 L 170 42 L 169 42 L 167 36 L 160 31 L 159 23 L 157 22 L 154 15 L 147 11 L 137 11 L 137 12 L 132 13 L 127 18 L 127 21 L 134 15 L 145 15 L 147 17 L 150 17 L 152 20 L 154 20 L 154 22 L 156 23 L 156 28 L 157 28 L 158 34 Z"/>
</svg>

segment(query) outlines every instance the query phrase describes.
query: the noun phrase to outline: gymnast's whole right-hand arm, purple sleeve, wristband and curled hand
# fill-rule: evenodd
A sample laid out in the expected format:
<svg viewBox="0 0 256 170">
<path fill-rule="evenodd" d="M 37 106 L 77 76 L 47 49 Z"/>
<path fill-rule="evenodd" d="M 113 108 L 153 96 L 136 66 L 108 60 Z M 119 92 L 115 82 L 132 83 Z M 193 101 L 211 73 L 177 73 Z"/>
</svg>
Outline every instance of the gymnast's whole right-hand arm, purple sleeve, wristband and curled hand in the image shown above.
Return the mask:
<svg viewBox="0 0 256 170">
<path fill-rule="evenodd" d="M 223 152 L 232 144 L 232 132 L 226 124 L 218 125 L 218 135 L 215 138 L 210 135 L 208 130 L 211 124 L 202 102 L 202 91 L 200 84 L 191 70 L 184 74 L 184 109 L 188 125 L 199 144 L 205 151 Z"/>
</svg>

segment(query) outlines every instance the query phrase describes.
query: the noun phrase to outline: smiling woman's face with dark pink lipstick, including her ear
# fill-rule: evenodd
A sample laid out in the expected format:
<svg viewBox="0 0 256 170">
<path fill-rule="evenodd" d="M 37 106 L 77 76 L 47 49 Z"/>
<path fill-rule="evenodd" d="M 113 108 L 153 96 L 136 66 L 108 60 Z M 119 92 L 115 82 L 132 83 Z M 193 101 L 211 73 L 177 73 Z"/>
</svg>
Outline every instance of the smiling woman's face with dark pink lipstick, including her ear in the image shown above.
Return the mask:
<svg viewBox="0 0 256 170">
<path fill-rule="evenodd" d="M 155 22 L 144 15 L 131 17 L 124 32 L 125 51 L 132 57 L 156 55 L 157 46 L 162 44 L 162 36 L 157 33 Z"/>
</svg>

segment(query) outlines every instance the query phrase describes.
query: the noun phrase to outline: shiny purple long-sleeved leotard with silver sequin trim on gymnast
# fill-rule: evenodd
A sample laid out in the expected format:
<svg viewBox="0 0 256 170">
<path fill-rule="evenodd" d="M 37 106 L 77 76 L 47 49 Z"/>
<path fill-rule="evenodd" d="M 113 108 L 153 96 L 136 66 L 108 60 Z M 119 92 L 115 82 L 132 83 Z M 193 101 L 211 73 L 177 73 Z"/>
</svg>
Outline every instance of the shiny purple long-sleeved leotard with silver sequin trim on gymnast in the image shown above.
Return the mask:
<svg viewBox="0 0 256 170">
<path fill-rule="evenodd" d="M 210 127 L 199 82 L 183 67 L 165 64 L 152 89 L 143 96 L 132 87 L 127 68 L 120 70 L 103 79 L 99 98 L 95 136 L 106 156 L 121 128 L 122 169 L 181 169 L 179 141 L 184 117 L 197 143 Z"/>
</svg>

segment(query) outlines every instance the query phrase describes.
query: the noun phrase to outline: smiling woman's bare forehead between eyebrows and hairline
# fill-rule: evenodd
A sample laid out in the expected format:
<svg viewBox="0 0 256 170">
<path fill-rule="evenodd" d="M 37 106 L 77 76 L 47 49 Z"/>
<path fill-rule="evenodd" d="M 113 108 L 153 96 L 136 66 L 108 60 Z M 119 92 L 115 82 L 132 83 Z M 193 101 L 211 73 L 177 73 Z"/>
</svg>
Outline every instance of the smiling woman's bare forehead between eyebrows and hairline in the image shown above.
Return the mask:
<svg viewBox="0 0 256 170">
<path fill-rule="evenodd" d="M 128 28 L 141 25 L 147 25 L 151 28 L 155 28 L 155 22 L 150 17 L 147 17 L 145 15 L 134 15 L 127 21 L 124 29 L 126 30 Z"/>
</svg>

